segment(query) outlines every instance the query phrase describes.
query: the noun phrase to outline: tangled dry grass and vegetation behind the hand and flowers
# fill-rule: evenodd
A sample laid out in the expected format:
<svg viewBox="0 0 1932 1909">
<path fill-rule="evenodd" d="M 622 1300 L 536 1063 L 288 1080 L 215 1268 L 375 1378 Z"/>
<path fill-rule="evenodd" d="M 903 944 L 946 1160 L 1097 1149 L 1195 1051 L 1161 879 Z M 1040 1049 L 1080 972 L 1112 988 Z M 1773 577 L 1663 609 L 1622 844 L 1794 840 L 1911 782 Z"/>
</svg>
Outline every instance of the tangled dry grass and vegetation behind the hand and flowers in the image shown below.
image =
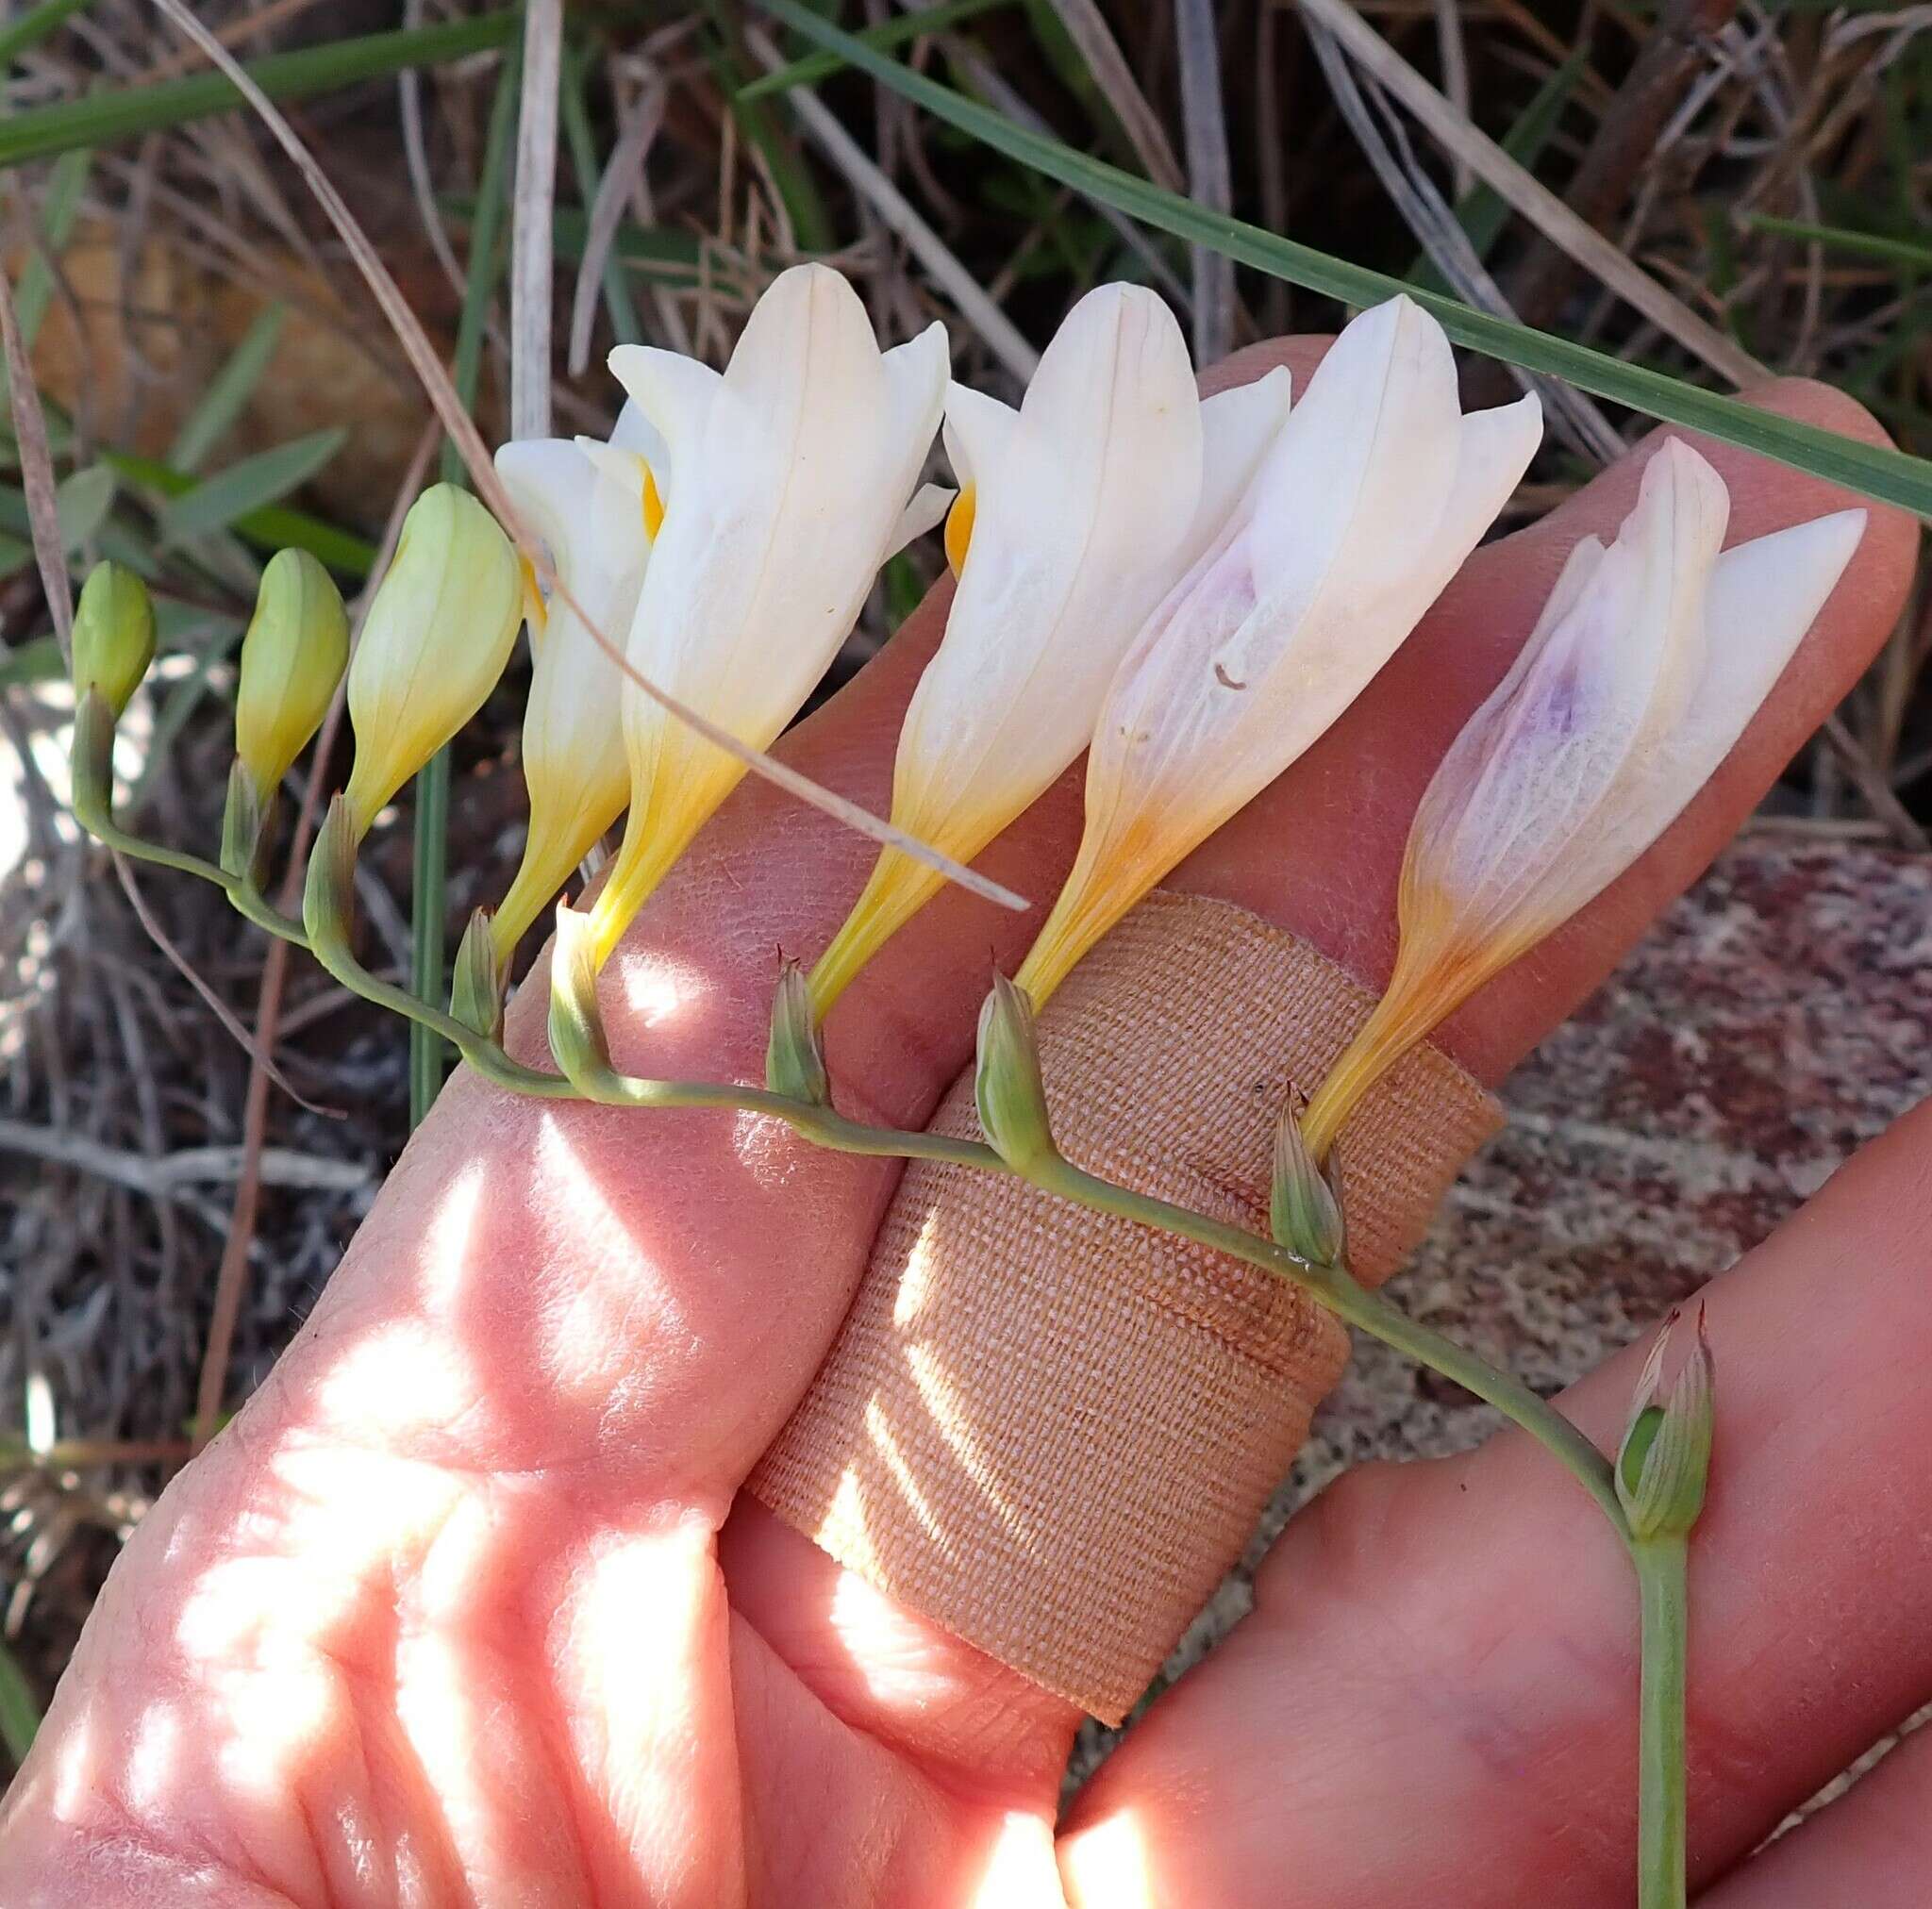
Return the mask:
<svg viewBox="0 0 1932 1909">
<path fill-rule="evenodd" d="M 759 288 L 802 257 L 846 271 L 893 338 L 943 317 L 956 375 L 1005 396 L 1105 278 L 1155 284 L 1204 361 L 1343 315 L 920 110 L 815 50 L 796 17 L 730 0 L 195 12 L 319 155 L 493 441 L 512 354 L 527 363 L 545 327 L 553 429 L 601 433 L 612 342 L 723 361 Z M 1209 213 L 1692 386 L 1830 379 L 1932 456 L 1932 8 L 815 0 L 813 14 L 1007 126 Z M 124 723 L 122 819 L 213 850 L 230 663 L 263 560 L 299 543 L 357 589 L 440 441 L 301 178 L 164 12 L 0 6 L 0 261 L 44 408 L 58 541 L 73 580 L 97 556 L 139 568 L 162 614 L 162 663 Z M 533 195 L 543 216 L 526 228 Z M 549 298 L 539 276 L 535 301 L 518 301 L 514 234 L 545 228 Z M 1470 402 L 1515 388 L 1486 357 L 1464 377 Z M 1517 518 L 1646 425 L 1553 396 Z M 153 871 L 129 887 L 62 813 L 71 698 L 29 533 L 33 454 L 0 431 L 12 1751 L 118 1542 L 185 1457 L 197 1395 L 232 1410 L 259 1383 L 410 1121 L 394 1024 L 307 962 L 265 966 L 265 943 L 211 889 Z M 835 680 L 918 601 L 935 545 L 887 570 Z M 1774 794 L 1777 827 L 1926 848 L 1928 641 L 1920 589 Z M 450 763 L 446 873 L 408 804 L 369 844 L 371 966 L 433 972 L 421 927 L 460 926 L 506 875 L 518 721 L 512 669 Z"/>
</svg>

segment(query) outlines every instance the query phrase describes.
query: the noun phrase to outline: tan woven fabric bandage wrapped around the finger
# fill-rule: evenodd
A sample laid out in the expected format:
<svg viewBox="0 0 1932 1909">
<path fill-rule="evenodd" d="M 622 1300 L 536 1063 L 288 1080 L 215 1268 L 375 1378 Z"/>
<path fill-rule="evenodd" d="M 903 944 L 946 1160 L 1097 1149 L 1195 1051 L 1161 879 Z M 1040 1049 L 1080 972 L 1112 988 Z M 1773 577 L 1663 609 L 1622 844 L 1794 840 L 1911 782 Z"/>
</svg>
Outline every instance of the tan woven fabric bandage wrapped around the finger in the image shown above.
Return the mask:
<svg viewBox="0 0 1932 1909">
<path fill-rule="evenodd" d="M 1161 891 L 1039 1016 L 1068 1159 L 1267 1229 L 1275 1119 L 1372 999 L 1306 943 Z M 1341 1146 L 1354 1271 L 1428 1227 L 1495 1101 L 1435 1049 Z M 978 1136 L 972 1076 L 933 1132 Z M 1240 1555 L 1349 1339 L 1225 1254 L 912 1161 L 852 1312 L 752 1492 L 954 1637 L 1117 1724 Z"/>
</svg>

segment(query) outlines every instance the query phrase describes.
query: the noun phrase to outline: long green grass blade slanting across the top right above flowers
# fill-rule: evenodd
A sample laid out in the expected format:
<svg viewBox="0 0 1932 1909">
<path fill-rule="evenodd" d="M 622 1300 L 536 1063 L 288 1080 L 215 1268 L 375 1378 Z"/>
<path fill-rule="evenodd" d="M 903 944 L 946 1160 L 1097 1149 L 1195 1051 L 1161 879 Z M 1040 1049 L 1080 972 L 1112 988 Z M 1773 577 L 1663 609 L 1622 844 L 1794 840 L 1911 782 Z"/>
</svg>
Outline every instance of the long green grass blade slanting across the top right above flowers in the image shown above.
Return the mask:
<svg viewBox="0 0 1932 1909">
<path fill-rule="evenodd" d="M 933 118 L 945 120 L 997 153 L 1005 153 L 1009 158 L 1016 158 L 1020 164 L 1161 232 L 1171 232 L 1190 243 L 1213 245 L 1240 265 L 1252 265 L 1256 271 L 1349 305 L 1374 305 L 1397 292 L 1406 292 L 1441 321 L 1443 330 L 1457 344 L 1472 352 L 1522 365 L 1526 371 L 1567 379 L 1578 390 L 1629 406 L 1646 417 L 1660 417 L 1687 431 L 1702 431 L 1743 450 L 1760 452 L 1779 464 L 1843 485 L 1847 491 L 1901 504 L 1918 516 L 1932 516 L 1932 462 L 1924 458 L 1911 458 L 1876 444 L 1859 444 L 1835 431 L 1776 417 L 1737 398 L 1687 385 L 1662 371 L 1627 365 L 1607 352 L 1594 352 L 1553 332 L 1532 330 L 1509 319 L 1472 311 L 1459 299 L 1405 284 L 1387 272 L 1350 265 L 1347 259 L 1316 251 L 1312 245 L 1277 238 L 1246 220 L 1209 213 L 1179 193 L 1161 191 L 1159 185 L 1150 185 L 1146 180 L 1122 172 L 1119 166 L 1109 166 L 1057 139 L 1012 126 L 951 87 L 873 52 L 850 33 L 829 27 L 796 0 L 761 0 L 761 4 L 806 39 L 842 54 L 848 64 L 871 73 L 881 85 L 904 95 L 916 106 L 923 106 Z"/>
</svg>

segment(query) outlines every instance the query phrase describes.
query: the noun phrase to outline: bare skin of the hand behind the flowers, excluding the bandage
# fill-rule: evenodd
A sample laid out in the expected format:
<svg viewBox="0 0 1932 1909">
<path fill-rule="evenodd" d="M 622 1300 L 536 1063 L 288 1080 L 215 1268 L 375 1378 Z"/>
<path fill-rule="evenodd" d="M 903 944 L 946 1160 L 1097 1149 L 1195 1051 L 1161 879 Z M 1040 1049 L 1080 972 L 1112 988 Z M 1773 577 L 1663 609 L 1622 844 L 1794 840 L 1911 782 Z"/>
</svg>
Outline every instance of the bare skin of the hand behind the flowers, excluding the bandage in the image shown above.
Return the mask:
<svg viewBox="0 0 1932 1909">
<path fill-rule="evenodd" d="M 1291 340 L 1223 377 L 1289 361 L 1300 383 L 1318 354 Z M 1878 437 L 1820 386 L 1756 402 Z M 1845 502 L 1700 448 L 1733 539 Z M 1636 468 L 1476 553 L 1175 881 L 1378 982 L 1434 761 Z M 1497 1080 L 1609 972 L 1878 649 L 1911 562 L 1913 527 L 1874 512 L 1712 786 L 1445 1045 Z M 885 804 L 945 599 L 788 738 L 800 767 Z M 1068 777 L 983 858 L 1030 918 L 947 893 L 840 1001 L 850 1111 L 925 1121 L 970 1061 L 989 954 L 1018 960 L 1078 819 Z M 773 945 L 823 947 L 869 860 L 746 784 L 607 982 L 618 1065 L 755 1080 Z M 526 1053 L 541 999 L 539 976 L 512 1014 Z M 1254 1615 L 1055 1824 L 1072 1712 L 738 1496 L 896 1171 L 742 1117 L 452 1082 L 296 1345 L 112 1573 L 0 1818 L 8 1903 L 1627 1903 L 1634 1588 L 1598 1511 L 1517 1436 L 1323 1494 Z M 1721 1909 L 1922 1895 L 1924 1751 L 1745 1857 L 1932 1696 L 1928 1225 L 1920 1113 L 1710 1289 L 1690 1797 L 1694 1876 Z M 1640 1356 L 1565 1410 L 1615 1438 Z"/>
</svg>

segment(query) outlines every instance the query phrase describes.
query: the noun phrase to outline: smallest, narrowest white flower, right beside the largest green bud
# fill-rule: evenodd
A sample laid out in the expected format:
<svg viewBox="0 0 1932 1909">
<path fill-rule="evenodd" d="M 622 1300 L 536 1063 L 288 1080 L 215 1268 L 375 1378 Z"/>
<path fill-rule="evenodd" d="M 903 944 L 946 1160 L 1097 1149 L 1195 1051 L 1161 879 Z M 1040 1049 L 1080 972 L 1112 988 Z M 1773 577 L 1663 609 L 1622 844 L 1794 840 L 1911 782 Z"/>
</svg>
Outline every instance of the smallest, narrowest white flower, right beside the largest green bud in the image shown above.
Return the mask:
<svg viewBox="0 0 1932 1909">
<path fill-rule="evenodd" d="M 526 601 L 529 833 L 522 866 L 491 924 L 498 964 L 630 800 L 624 672 L 583 616 L 609 641 L 624 643 L 663 520 L 657 471 L 638 448 L 628 448 L 649 444 L 632 410 L 626 406 L 612 444 L 527 439 L 497 452 L 497 475 L 510 502 L 543 541 L 564 585 L 549 605 L 535 589 Z"/>
</svg>

